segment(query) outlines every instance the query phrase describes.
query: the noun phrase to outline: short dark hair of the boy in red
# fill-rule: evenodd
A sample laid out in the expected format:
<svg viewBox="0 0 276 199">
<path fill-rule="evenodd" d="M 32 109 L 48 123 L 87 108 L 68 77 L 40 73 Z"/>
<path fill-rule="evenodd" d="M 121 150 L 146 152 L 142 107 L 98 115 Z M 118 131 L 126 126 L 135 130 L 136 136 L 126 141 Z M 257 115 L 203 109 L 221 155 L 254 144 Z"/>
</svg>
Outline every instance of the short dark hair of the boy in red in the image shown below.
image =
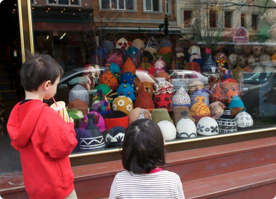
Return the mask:
<svg viewBox="0 0 276 199">
<path fill-rule="evenodd" d="M 43 82 L 50 80 L 54 84 L 62 77 L 63 69 L 49 55 L 29 53 L 28 57 L 20 70 L 21 84 L 26 91 L 37 91 Z"/>
</svg>

